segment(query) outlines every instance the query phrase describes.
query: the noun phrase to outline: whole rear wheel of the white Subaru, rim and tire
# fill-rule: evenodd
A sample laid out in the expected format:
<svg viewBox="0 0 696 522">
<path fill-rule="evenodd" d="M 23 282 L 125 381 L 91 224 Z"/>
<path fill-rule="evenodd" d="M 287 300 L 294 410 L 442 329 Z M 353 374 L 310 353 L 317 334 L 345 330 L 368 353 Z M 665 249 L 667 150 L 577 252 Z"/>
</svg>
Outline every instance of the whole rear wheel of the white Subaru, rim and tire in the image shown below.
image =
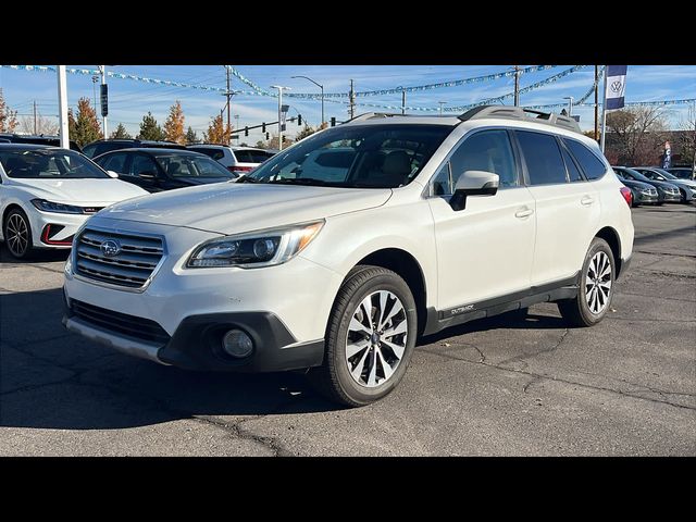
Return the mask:
<svg viewBox="0 0 696 522">
<path fill-rule="evenodd" d="M 595 237 L 589 245 L 580 274 L 580 288 L 574 299 L 558 301 L 563 319 L 573 326 L 593 326 L 611 307 L 616 262 L 609 244 Z"/>
</svg>

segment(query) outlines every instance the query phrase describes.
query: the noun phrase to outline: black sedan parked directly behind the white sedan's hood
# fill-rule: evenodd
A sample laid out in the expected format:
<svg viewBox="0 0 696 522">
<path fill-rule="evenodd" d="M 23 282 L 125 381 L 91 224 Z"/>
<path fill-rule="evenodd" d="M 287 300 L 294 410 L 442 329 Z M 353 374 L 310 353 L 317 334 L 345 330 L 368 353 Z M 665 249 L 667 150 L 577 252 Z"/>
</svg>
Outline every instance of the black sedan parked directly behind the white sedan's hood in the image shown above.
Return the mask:
<svg viewBox="0 0 696 522">
<path fill-rule="evenodd" d="M 235 176 L 204 154 L 178 149 L 122 149 L 92 160 L 104 171 L 149 192 L 221 183 Z"/>
</svg>

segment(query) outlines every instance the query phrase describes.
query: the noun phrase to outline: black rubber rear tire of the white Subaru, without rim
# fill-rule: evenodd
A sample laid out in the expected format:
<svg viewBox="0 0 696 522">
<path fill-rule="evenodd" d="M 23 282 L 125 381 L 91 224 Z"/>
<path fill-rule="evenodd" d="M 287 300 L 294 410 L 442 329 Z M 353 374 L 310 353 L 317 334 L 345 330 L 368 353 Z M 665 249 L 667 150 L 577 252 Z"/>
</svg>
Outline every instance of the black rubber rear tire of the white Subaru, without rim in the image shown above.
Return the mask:
<svg viewBox="0 0 696 522">
<path fill-rule="evenodd" d="M 609 274 L 610 288 L 608 299 L 604 300 L 604 308 L 595 313 L 591 310 L 589 304 L 587 302 L 587 285 L 586 277 L 589 276 L 589 264 L 595 256 L 599 252 L 604 252 L 611 268 L 611 272 Z M 592 274 L 592 273 L 591 273 Z M 561 312 L 563 319 L 571 326 L 594 326 L 599 321 L 604 319 L 609 309 L 611 308 L 611 300 L 613 299 L 613 284 L 617 275 L 617 264 L 613 259 L 613 253 L 611 252 L 611 248 L 609 244 L 599 237 L 595 237 L 589 244 L 589 250 L 587 250 L 587 254 L 585 256 L 585 261 L 583 262 L 583 268 L 580 273 L 580 288 L 577 289 L 577 296 L 574 299 L 563 299 L 557 302 L 558 310 Z M 598 290 L 595 290 L 596 293 Z M 599 301 L 596 301 L 599 302 Z"/>
</svg>

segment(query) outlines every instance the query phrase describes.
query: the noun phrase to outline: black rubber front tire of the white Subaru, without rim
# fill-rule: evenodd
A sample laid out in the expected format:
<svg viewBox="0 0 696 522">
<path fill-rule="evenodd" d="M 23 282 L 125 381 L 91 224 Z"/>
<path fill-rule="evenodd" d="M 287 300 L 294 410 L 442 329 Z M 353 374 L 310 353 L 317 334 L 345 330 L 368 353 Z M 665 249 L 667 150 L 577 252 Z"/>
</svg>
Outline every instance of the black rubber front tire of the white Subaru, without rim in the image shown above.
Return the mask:
<svg viewBox="0 0 696 522">
<path fill-rule="evenodd" d="M 406 343 L 406 347 L 394 373 L 388 377 L 386 377 L 382 359 L 380 359 L 377 368 L 382 368 L 384 382 L 374 387 L 366 387 L 359 384 L 350 374 L 350 362 L 346 358 L 346 347 L 353 313 L 358 311 L 363 299 L 378 290 L 391 293 L 403 306 L 402 320 L 407 321 L 407 331 L 405 338 L 401 337 L 401 341 Z M 375 301 L 373 300 L 372 302 Z M 385 309 L 389 310 L 388 306 Z M 413 353 L 417 334 L 418 313 L 415 301 L 406 282 L 390 270 L 381 266 L 358 265 L 346 276 L 346 281 L 334 300 L 334 307 L 326 327 L 324 363 L 321 366 L 311 369 L 308 377 L 316 390 L 332 401 L 350 407 L 369 405 L 387 396 L 399 384 Z M 366 341 L 368 339 L 365 338 L 364 340 Z M 382 349 L 384 350 L 385 348 Z M 360 358 L 359 353 L 365 353 L 364 357 L 370 358 L 375 349 L 370 346 L 364 350 L 366 350 L 366 353 L 361 350 L 356 353 L 356 357 Z M 374 357 L 377 357 L 376 353 Z M 376 361 L 376 359 L 373 359 L 373 361 Z M 370 363 L 365 362 L 366 364 Z M 372 364 L 376 365 L 377 363 L 372 362 Z"/>
</svg>

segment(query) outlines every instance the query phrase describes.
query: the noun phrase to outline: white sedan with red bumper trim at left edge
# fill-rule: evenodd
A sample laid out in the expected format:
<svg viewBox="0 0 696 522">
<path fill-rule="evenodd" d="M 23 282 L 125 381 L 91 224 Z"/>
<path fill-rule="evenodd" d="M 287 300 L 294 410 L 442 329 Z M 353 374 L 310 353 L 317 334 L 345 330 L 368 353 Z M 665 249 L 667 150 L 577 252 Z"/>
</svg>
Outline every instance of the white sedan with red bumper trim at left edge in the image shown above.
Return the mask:
<svg viewBox="0 0 696 522">
<path fill-rule="evenodd" d="M 71 248 L 75 232 L 90 215 L 146 194 L 78 152 L 0 144 L 0 239 L 15 258 L 34 249 Z"/>
</svg>

